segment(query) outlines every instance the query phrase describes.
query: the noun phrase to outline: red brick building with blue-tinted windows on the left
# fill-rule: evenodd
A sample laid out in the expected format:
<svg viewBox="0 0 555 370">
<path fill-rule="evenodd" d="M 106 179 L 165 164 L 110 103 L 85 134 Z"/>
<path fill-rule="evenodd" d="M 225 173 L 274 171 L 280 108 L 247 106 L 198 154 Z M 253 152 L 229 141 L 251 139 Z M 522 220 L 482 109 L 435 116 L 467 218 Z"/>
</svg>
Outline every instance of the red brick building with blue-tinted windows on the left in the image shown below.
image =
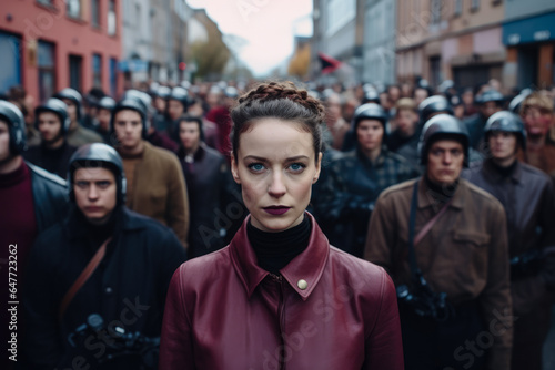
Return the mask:
<svg viewBox="0 0 555 370">
<path fill-rule="evenodd" d="M 22 85 L 40 103 L 71 86 L 123 90 L 120 0 L 12 0 L 0 8 L 0 93 Z"/>
</svg>

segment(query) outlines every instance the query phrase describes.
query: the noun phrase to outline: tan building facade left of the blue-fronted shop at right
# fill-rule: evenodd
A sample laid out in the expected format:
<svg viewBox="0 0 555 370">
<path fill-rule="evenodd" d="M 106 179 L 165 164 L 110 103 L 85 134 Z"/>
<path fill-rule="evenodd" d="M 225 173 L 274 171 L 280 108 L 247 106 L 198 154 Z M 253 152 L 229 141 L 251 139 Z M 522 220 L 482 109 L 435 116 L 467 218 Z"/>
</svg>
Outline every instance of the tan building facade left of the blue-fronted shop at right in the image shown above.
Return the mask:
<svg viewBox="0 0 555 370">
<path fill-rule="evenodd" d="M 432 86 L 453 80 L 460 89 L 490 79 L 505 86 L 501 0 L 398 0 L 397 78 Z"/>
</svg>

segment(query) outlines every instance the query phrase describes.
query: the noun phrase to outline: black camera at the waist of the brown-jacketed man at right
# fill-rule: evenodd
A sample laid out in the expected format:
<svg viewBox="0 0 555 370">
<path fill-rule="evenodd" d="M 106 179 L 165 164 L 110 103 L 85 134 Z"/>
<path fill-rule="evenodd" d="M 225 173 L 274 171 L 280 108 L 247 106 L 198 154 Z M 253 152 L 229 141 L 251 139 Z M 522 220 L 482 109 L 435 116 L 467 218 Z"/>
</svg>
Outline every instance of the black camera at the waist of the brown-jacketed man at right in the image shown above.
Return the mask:
<svg viewBox="0 0 555 370">
<path fill-rule="evenodd" d="M 434 292 L 421 274 L 414 279 L 413 289 L 401 285 L 396 291 L 398 304 L 418 317 L 443 322 L 455 315 L 453 307 L 447 302 L 447 295 Z"/>
</svg>

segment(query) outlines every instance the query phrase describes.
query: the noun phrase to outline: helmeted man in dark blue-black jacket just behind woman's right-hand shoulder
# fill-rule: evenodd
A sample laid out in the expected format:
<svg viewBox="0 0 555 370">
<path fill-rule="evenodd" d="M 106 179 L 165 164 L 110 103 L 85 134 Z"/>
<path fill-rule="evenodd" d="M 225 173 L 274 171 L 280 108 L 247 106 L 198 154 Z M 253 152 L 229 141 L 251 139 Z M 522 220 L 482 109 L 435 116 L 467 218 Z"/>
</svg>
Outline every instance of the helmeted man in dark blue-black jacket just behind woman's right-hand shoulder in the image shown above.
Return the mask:
<svg viewBox="0 0 555 370">
<path fill-rule="evenodd" d="M 333 161 L 315 205 L 322 229 L 334 246 L 362 257 L 374 202 L 385 188 L 418 176 L 416 169 L 385 145 L 386 112 L 375 103 L 361 105 L 353 119 L 355 150 Z"/>
</svg>

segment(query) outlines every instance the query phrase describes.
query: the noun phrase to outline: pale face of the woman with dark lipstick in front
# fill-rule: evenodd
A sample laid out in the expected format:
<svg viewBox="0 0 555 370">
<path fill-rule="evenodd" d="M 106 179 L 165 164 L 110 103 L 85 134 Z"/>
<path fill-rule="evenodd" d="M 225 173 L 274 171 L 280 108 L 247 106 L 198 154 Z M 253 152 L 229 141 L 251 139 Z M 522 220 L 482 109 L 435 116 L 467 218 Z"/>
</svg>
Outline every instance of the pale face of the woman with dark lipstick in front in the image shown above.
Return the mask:
<svg viewBox="0 0 555 370">
<path fill-rule="evenodd" d="M 241 134 L 231 169 L 254 227 L 282 232 L 303 220 L 320 176 L 315 155 L 312 134 L 295 122 L 262 119 Z"/>
</svg>

